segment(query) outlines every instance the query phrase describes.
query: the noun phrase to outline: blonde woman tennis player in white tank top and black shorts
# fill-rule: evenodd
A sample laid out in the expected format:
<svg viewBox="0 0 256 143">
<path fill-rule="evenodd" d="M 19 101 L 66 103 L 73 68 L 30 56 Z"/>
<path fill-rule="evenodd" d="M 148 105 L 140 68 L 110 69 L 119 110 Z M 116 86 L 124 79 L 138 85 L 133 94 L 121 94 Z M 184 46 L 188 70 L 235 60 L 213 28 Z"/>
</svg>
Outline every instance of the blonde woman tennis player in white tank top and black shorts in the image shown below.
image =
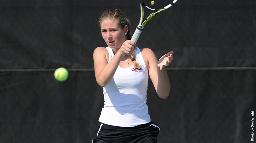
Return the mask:
<svg viewBox="0 0 256 143">
<path fill-rule="evenodd" d="M 156 143 L 160 128 L 148 113 L 148 77 L 158 96 L 166 99 L 170 91 L 166 66 L 172 62 L 173 52 L 157 60 L 151 49 L 136 47 L 130 40 L 130 22 L 120 10 L 105 11 L 99 24 L 107 47 L 97 47 L 93 59 L 105 102 L 92 142 Z"/>
</svg>

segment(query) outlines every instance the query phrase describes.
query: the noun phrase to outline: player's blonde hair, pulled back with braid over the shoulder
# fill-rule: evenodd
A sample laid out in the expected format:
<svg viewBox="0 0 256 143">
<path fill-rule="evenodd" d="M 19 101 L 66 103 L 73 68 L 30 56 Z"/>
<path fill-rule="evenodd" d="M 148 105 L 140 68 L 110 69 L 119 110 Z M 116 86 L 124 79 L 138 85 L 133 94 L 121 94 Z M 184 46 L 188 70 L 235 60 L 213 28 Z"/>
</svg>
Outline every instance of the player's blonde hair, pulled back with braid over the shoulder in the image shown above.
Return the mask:
<svg viewBox="0 0 256 143">
<path fill-rule="evenodd" d="M 99 18 L 99 25 L 101 25 L 102 21 L 106 20 L 106 19 L 115 20 L 122 27 L 122 29 L 124 29 L 125 25 L 127 25 L 128 32 L 126 34 L 126 40 L 131 40 L 131 38 L 132 38 L 132 34 L 130 32 L 131 23 L 130 23 L 129 19 L 126 18 L 125 14 L 121 10 L 109 9 L 109 10 L 105 11 Z M 135 51 L 131 55 L 131 60 L 133 61 L 135 68 L 141 67 L 141 65 L 136 61 Z"/>
</svg>

